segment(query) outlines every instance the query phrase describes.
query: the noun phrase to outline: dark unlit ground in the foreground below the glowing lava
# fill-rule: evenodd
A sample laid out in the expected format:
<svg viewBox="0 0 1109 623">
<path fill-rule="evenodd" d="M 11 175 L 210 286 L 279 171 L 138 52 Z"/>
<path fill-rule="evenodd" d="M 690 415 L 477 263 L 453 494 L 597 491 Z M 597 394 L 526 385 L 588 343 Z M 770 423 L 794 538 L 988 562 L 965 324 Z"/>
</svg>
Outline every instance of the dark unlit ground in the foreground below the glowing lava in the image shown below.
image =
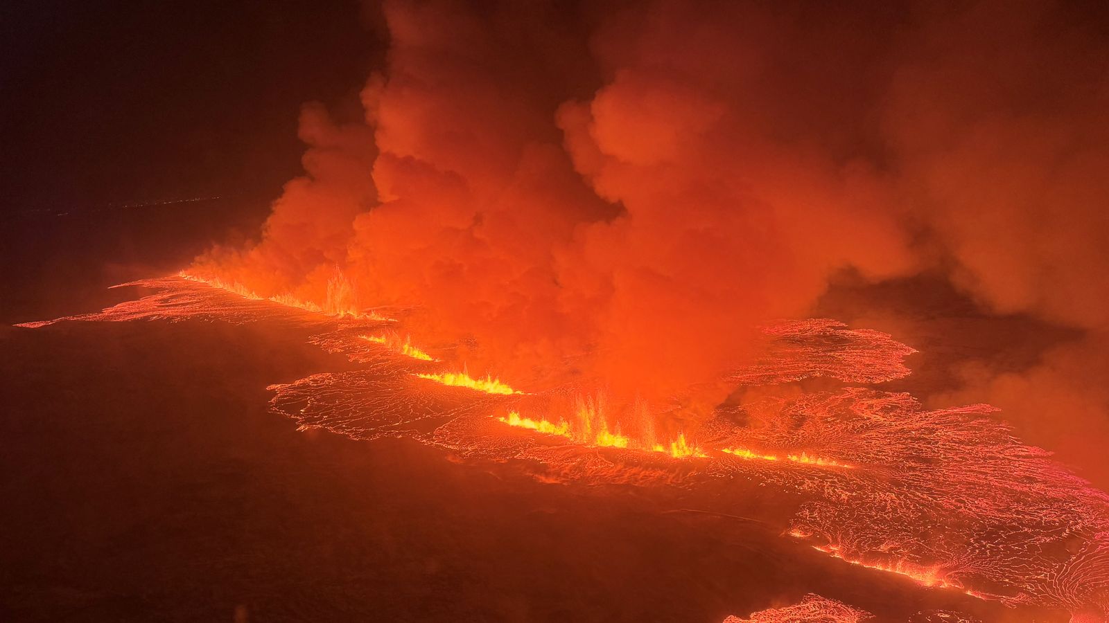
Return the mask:
<svg viewBox="0 0 1109 623">
<path fill-rule="evenodd" d="M 150 226 L 172 237 L 172 219 Z M 103 287 L 206 244 L 139 236 L 145 251 L 104 269 L 113 238 L 42 235 L 6 258 L 30 268 L 0 327 L 0 620 L 715 623 L 810 591 L 883 620 L 1025 620 L 683 511 L 665 488 L 542 484 L 410 440 L 297 431 L 266 386 L 350 364 L 265 324 L 9 327 L 131 298 Z"/>
</svg>

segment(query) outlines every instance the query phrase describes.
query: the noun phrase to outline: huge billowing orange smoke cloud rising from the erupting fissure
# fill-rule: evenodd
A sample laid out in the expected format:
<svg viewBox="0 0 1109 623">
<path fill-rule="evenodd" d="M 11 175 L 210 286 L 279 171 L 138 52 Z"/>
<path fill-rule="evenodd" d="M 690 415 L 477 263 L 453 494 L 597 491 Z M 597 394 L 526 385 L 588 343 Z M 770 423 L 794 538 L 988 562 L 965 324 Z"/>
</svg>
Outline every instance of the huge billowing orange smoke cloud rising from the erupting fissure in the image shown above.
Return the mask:
<svg viewBox="0 0 1109 623">
<path fill-rule="evenodd" d="M 680 399 L 683 417 L 726 395 L 755 326 L 804 315 L 845 269 L 950 266 L 999 313 L 1109 330 L 1107 47 L 1069 6 L 383 12 L 365 123 L 306 109 L 307 175 L 256 245 L 199 272 L 414 306 L 414 339 L 472 372 Z M 1092 361 L 1078 376 L 1105 378 Z M 991 394 L 975 401 L 1009 407 Z M 1103 419 L 1105 392 L 1086 395 Z"/>
</svg>

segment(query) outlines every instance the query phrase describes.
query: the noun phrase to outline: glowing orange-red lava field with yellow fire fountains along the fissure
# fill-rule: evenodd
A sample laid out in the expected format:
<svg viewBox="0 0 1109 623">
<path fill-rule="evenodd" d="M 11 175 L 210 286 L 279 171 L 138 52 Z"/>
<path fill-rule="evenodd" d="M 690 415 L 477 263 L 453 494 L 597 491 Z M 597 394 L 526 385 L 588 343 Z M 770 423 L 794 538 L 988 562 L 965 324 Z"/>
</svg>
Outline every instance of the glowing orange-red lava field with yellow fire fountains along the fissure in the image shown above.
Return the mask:
<svg viewBox="0 0 1109 623">
<path fill-rule="evenodd" d="M 217 288 L 170 277 L 130 285 L 160 292 L 60 320 L 279 319 L 318 331 L 311 341 L 324 349 L 367 350 L 358 338 L 362 326 L 234 293 L 234 284 Z M 826 335 L 816 337 L 815 345 L 806 345 L 791 336 L 796 356 L 823 361 L 828 358 L 823 349 L 840 348 L 824 344 Z M 886 351 L 899 360 L 898 349 Z M 716 417 L 699 422 L 699 438 L 711 440 L 700 450 L 684 433 L 660 442 L 650 427 L 621 428 L 600 397 L 568 404 L 562 390 L 523 398 L 489 377 L 415 375 L 476 390 L 430 391 L 406 367 L 410 362 L 353 360 L 365 366 L 274 386 L 273 408 L 302 427 L 359 439 L 414 435 L 459 456 L 531 461 L 537 478 L 558 481 L 696 487 L 742 474 L 796 499 L 788 515 L 769 519 L 787 522 L 790 535 L 822 554 L 923 586 L 1105 620 L 1109 496 L 1046 451 L 1020 443 L 989 406 L 926 410 L 908 394 L 853 387 L 783 392 L 718 408 Z M 546 417 L 521 415 L 528 411 L 519 405 L 532 400 L 552 405 L 542 411 Z M 489 417 L 496 408 L 506 409 L 499 411 L 502 418 Z M 497 429 L 505 425 L 537 435 L 502 435 Z M 557 443 L 540 442 L 540 435 Z M 620 450 L 591 450 L 598 446 Z M 658 460 L 667 457 L 699 459 Z M 745 498 L 722 496 L 720 503 L 734 512 Z"/>
</svg>

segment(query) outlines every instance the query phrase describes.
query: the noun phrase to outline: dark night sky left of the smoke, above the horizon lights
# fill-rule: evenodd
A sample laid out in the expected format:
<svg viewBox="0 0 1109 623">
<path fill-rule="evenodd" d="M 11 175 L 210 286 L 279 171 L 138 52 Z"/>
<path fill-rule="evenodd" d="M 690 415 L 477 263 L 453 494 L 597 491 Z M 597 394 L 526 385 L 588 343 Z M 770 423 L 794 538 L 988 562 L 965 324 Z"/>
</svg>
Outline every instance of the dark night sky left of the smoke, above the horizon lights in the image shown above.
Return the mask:
<svg viewBox="0 0 1109 623">
<path fill-rule="evenodd" d="M 359 114 L 383 53 L 370 13 L 355 1 L 4 2 L 0 210 L 213 195 L 264 210 L 299 171 L 301 105 Z"/>
</svg>

